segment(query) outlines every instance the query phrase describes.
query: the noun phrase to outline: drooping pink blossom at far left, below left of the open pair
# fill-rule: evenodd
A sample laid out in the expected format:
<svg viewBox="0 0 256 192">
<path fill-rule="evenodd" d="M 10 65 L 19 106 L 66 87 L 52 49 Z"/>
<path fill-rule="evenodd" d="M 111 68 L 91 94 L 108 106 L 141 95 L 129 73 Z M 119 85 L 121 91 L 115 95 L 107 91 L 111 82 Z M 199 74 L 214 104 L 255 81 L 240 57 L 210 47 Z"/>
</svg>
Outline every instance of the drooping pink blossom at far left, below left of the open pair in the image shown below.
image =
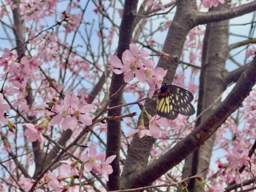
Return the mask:
<svg viewBox="0 0 256 192">
<path fill-rule="evenodd" d="M 23 126 L 26 126 L 27 129 L 25 130 L 24 135 L 26 137 L 28 137 L 28 142 L 35 142 L 36 140 L 38 140 L 41 144 L 40 144 L 40 149 L 43 149 L 43 143 L 44 143 L 44 137 L 42 135 L 42 127 L 39 126 L 34 126 L 31 123 L 24 123 Z"/>
</svg>

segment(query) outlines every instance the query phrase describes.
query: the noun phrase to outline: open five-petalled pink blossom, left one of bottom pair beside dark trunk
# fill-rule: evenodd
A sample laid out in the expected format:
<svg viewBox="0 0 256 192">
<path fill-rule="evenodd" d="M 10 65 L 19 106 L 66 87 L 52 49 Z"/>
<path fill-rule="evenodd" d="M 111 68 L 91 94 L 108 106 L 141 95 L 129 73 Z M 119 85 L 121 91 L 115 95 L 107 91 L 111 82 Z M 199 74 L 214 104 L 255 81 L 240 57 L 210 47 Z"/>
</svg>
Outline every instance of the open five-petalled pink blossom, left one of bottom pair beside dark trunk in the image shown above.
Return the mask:
<svg viewBox="0 0 256 192">
<path fill-rule="evenodd" d="M 89 155 L 88 155 L 89 154 Z M 103 153 L 97 154 L 97 149 L 95 146 L 92 146 L 89 149 L 88 154 L 84 154 L 81 156 L 81 160 L 85 162 L 84 164 L 84 170 L 86 172 L 90 172 L 91 170 L 94 170 L 97 174 L 101 174 L 101 166 L 96 162 L 96 160 L 101 160 L 104 156 Z"/>
</svg>

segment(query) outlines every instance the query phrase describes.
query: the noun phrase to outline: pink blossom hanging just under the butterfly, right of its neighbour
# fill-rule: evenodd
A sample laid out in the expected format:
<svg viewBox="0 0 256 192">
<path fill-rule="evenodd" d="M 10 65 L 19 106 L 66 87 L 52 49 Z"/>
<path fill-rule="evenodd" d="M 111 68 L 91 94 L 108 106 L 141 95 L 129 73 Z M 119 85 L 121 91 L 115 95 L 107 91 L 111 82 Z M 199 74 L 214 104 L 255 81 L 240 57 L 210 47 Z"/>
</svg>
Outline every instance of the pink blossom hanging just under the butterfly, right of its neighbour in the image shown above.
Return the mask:
<svg viewBox="0 0 256 192">
<path fill-rule="evenodd" d="M 149 130 L 152 136 L 156 139 L 160 137 L 160 126 L 168 127 L 170 122 L 166 118 L 161 118 L 159 115 L 155 115 L 149 121 Z"/>
</svg>

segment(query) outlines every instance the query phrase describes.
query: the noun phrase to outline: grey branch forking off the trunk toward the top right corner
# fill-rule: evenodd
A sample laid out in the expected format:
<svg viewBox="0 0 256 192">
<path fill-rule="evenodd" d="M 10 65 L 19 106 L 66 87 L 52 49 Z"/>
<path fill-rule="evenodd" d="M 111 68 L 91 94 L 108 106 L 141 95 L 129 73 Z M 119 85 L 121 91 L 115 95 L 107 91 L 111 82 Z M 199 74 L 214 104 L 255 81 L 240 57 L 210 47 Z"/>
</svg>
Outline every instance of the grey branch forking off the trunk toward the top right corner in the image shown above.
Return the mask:
<svg viewBox="0 0 256 192">
<path fill-rule="evenodd" d="M 240 5 L 233 9 L 224 11 L 199 12 L 196 17 L 196 25 L 202 25 L 211 22 L 218 22 L 234 17 L 238 17 L 256 10 L 256 1 Z"/>
</svg>

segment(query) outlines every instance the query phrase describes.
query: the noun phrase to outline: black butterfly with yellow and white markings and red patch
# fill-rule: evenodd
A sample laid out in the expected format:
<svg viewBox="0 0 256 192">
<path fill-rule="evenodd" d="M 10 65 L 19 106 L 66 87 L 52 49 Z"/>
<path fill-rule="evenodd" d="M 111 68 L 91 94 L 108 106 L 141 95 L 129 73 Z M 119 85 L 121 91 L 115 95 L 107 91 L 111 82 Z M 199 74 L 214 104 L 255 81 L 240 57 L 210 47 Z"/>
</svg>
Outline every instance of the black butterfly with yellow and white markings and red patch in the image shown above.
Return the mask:
<svg viewBox="0 0 256 192">
<path fill-rule="evenodd" d="M 193 94 L 176 85 L 166 85 L 164 83 L 158 93 L 156 100 L 156 111 L 160 117 L 175 119 L 178 113 L 191 116 L 196 111 L 190 103 L 193 101 Z"/>
</svg>

